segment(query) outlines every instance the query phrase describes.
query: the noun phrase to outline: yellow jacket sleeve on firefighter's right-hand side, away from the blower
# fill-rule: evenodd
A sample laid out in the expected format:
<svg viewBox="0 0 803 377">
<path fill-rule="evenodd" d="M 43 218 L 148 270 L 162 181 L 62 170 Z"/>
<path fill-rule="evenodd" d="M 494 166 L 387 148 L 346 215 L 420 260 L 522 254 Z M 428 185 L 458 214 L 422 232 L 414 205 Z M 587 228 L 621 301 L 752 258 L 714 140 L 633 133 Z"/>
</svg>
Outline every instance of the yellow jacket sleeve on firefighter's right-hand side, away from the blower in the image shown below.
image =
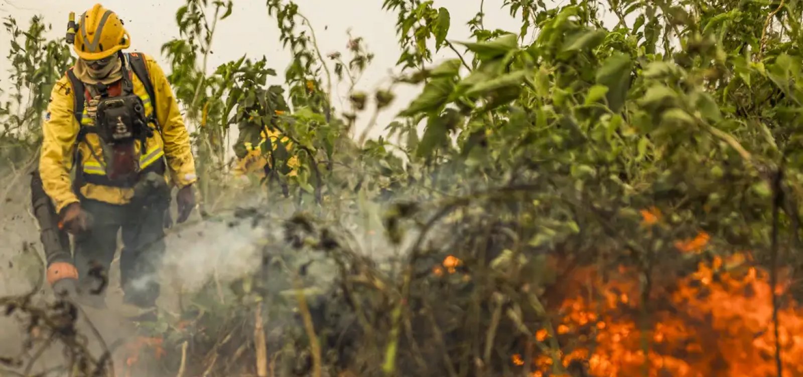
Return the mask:
<svg viewBox="0 0 803 377">
<path fill-rule="evenodd" d="M 167 81 L 165 72 L 151 56 L 145 55 L 153 91 L 156 95 L 156 109 L 162 138 L 165 142 L 165 157 L 173 182 L 179 188 L 193 184 L 198 180 L 195 175 L 195 160 L 190 145 L 190 133 L 184 124 L 184 118 L 178 108 L 173 88 Z"/>
</svg>

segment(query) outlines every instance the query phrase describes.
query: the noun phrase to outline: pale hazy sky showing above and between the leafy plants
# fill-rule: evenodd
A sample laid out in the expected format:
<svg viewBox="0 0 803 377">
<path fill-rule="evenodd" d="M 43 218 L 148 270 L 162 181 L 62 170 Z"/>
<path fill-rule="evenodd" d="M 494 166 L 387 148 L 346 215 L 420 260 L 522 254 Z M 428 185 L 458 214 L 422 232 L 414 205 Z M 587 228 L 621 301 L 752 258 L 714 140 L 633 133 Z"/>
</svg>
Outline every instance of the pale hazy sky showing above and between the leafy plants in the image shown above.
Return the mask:
<svg viewBox="0 0 803 377">
<path fill-rule="evenodd" d="M 70 11 L 75 11 L 75 14 L 79 15 L 95 3 L 96 1 L 90 0 L 0 0 L 0 14 L 3 17 L 11 15 L 22 25 L 26 25 L 34 14 L 43 15 L 45 21 L 53 25 L 51 35 L 61 36 L 66 30 L 67 14 Z M 169 71 L 169 64 L 161 55 L 161 45 L 178 36 L 175 13 L 184 3 L 184 0 L 101 2 L 123 18 L 132 38 L 132 47 L 129 51 L 141 51 L 153 55 L 165 71 Z M 290 53 L 283 51 L 275 19 L 268 16 L 265 3 L 265 0 L 234 0 L 233 14 L 225 21 L 218 22 L 218 30 L 214 36 L 214 55 L 210 56 L 209 71 L 214 70 L 219 64 L 238 59 L 243 54 L 255 59 L 266 55 L 268 64 L 279 74 L 276 77 L 277 82 L 281 81 L 283 71 L 290 62 Z M 397 71 L 394 67 L 399 55 L 395 34 L 396 15 L 381 9 L 382 0 L 296 0 L 296 3 L 299 5 L 300 13 L 307 16 L 315 27 L 322 54 L 326 55 L 332 51 L 341 51 L 345 54 L 348 42 L 346 31 L 349 28 L 352 29 L 354 36 L 365 39 L 366 46 L 369 51 L 373 51 L 375 58 L 357 85 L 359 89 L 373 92 L 378 85 L 387 83 L 390 70 Z M 517 30 L 520 23 L 513 20 L 507 9 L 501 9 L 502 3 L 502 0 L 485 1 L 486 28 Z M 448 39 L 469 40 L 471 33 L 466 22 L 474 17 L 479 10 L 479 4 L 480 0 L 435 0 L 435 6 L 445 6 L 450 11 L 451 29 Z M 9 48 L 9 38 L 5 30 L 2 30 L 0 51 L 3 56 L 7 54 Z M 454 53 L 446 49 L 442 50 L 435 60 L 452 57 Z M 8 83 L 6 78 L 9 69 L 10 65 L 6 59 L 0 59 L 2 86 Z M 342 83 L 339 87 L 335 87 L 335 90 L 347 105 L 348 84 Z M 381 114 L 371 136 L 380 135 L 385 124 L 393 120 L 393 114 L 409 103 L 418 90 L 420 89 L 412 86 L 397 87 L 394 90 L 397 94 L 396 101 L 388 111 Z M 340 99 L 335 98 L 334 103 L 338 110 L 344 108 L 340 106 Z M 370 113 L 361 116 L 361 121 L 358 120 L 358 130 L 365 127 L 369 116 Z"/>
</svg>

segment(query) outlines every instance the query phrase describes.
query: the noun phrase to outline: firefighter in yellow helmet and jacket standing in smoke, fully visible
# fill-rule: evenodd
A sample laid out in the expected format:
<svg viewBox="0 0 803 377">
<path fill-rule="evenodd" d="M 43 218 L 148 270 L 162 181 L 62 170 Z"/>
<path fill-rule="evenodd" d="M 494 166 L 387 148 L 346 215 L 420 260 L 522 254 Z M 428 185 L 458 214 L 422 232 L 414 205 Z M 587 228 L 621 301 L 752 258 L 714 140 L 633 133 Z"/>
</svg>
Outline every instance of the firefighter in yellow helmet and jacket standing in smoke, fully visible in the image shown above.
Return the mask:
<svg viewBox="0 0 803 377">
<path fill-rule="evenodd" d="M 51 91 L 39 175 L 59 227 L 73 235 L 73 264 L 51 264 L 48 280 L 60 291 L 74 284 L 79 301 L 104 308 L 103 272 L 121 231 L 124 303 L 155 318 L 171 186 L 178 223 L 195 207 L 190 136 L 158 63 L 124 53 L 131 38 L 112 10 L 71 14 L 67 43 L 78 59 Z"/>
</svg>

